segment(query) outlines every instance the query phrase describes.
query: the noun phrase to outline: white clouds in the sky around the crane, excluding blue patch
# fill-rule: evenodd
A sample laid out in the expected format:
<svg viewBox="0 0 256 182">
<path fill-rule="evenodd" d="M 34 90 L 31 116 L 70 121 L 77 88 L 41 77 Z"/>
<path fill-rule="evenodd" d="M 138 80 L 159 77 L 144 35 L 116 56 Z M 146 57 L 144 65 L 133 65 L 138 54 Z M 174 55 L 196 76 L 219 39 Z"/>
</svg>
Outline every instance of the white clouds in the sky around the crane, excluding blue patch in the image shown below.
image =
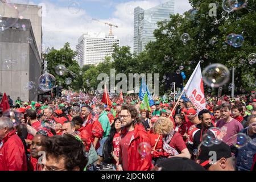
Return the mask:
<svg viewBox="0 0 256 182">
<path fill-rule="evenodd" d="M 118 3 L 114 5 L 115 11 L 112 18 L 100 19 L 100 21 L 116 24 L 118 28 L 113 27 L 112 31 L 120 39 L 121 46 L 128 45 L 133 49 L 133 9 L 137 6 L 143 9 L 150 9 L 164 2 L 167 2 L 167 0 L 126 1 Z M 109 26 L 93 21 L 93 17 L 90 17 L 85 10 L 79 9 L 79 7 L 71 10 L 68 7 L 57 7 L 49 2 L 43 3 L 46 4 L 46 16 L 43 16 L 43 42 L 45 46 L 54 46 L 59 49 L 65 42 L 69 42 L 71 47 L 75 49 L 77 40 L 82 33 L 87 31 L 109 33 Z M 175 0 L 175 13 L 182 14 L 189 9 L 191 9 L 191 6 L 188 0 Z M 76 10 L 79 12 L 77 13 Z"/>
</svg>

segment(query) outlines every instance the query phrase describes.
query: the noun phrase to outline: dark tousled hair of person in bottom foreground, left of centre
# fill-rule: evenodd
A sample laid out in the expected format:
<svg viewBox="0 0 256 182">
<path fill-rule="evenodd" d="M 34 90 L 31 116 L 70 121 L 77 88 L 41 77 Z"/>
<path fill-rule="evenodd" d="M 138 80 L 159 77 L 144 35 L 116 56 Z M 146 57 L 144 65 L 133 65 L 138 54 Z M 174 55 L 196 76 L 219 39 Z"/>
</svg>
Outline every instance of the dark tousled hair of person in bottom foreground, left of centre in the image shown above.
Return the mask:
<svg viewBox="0 0 256 182">
<path fill-rule="evenodd" d="M 55 135 L 46 138 L 44 150 L 46 151 L 46 159 L 49 155 L 56 158 L 57 161 L 64 157 L 65 168 L 69 171 L 75 167 L 79 167 L 80 171 L 83 171 L 88 162 L 84 144 L 73 135 Z"/>
</svg>

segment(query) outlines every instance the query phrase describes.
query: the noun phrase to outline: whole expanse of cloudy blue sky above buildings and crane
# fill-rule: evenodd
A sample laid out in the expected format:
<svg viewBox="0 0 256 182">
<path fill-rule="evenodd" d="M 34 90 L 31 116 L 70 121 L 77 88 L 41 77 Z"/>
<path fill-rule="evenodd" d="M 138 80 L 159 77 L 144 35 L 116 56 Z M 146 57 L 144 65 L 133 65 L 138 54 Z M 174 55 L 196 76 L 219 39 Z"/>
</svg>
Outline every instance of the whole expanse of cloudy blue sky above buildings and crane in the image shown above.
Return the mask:
<svg viewBox="0 0 256 182">
<path fill-rule="evenodd" d="M 80 36 L 88 31 L 109 33 L 109 26 L 93 21 L 116 24 L 113 33 L 121 46 L 133 50 L 133 9 L 150 9 L 168 0 L 13 0 L 43 7 L 43 47 L 61 48 L 69 42 L 75 49 Z M 71 8 L 70 8 L 71 7 Z M 191 9 L 188 0 L 175 0 L 175 13 Z"/>
</svg>

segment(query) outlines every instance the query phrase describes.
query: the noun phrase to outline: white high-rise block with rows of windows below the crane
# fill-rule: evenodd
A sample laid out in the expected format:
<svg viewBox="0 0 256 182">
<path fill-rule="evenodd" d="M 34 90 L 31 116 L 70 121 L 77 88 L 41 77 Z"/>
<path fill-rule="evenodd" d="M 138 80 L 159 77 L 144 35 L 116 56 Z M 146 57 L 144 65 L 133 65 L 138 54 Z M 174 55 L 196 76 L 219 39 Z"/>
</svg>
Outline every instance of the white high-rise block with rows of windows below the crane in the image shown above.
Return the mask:
<svg viewBox="0 0 256 182">
<path fill-rule="evenodd" d="M 104 32 L 88 32 L 83 34 L 76 46 L 77 62 L 80 67 L 85 64 L 98 64 L 105 60 L 106 56 L 112 56 L 113 45 L 119 46 L 116 36 L 106 35 Z"/>
</svg>

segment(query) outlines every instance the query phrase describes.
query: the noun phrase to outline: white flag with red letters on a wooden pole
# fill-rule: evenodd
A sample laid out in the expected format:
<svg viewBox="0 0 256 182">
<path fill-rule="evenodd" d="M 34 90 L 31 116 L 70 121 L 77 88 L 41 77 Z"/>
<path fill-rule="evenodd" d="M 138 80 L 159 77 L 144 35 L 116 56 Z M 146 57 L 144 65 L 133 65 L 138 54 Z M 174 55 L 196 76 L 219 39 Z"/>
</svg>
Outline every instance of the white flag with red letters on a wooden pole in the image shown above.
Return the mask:
<svg viewBox="0 0 256 182">
<path fill-rule="evenodd" d="M 196 107 L 197 113 L 199 113 L 200 110 L 205 109 L 204 85 L 200 61 L 185 85 L 184 92 L 187 94 L 192 104 Z"/>
</svg>

